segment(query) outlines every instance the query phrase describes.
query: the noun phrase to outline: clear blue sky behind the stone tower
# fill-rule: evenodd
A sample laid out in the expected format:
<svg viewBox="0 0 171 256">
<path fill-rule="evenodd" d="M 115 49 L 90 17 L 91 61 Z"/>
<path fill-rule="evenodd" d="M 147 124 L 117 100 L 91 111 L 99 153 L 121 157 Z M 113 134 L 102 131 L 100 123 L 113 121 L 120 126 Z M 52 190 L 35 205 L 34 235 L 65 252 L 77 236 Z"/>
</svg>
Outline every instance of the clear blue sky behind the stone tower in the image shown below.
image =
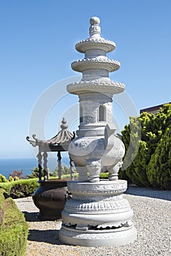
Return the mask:
<svg viewBox="0 0 171 256">
<path fill-rule="evenodd" d="M 0 1 L 0 158 L 33 156 L 26 136 L 34 105 L 49 86 L 79 75 L 70 64 L 83 58 L 75 43 L 88 37 L 92 16 L 101 20 L 102 37 L 116 43 L 108 57 L 121 68 L 110 78 L 125 83 L 137 113 L 170 102 L 170 12 L 170 0 Z M 75 105 L 77 97 L 65 95 L 50 108 L 45 137 L 56 134 L 66 110 L 77 112 L 69 107 Z M 129 113 L 117 104 L 113 112 L 123 129 Z M 35 132 L 41 137 L 36 124 Z"/>
</svg>

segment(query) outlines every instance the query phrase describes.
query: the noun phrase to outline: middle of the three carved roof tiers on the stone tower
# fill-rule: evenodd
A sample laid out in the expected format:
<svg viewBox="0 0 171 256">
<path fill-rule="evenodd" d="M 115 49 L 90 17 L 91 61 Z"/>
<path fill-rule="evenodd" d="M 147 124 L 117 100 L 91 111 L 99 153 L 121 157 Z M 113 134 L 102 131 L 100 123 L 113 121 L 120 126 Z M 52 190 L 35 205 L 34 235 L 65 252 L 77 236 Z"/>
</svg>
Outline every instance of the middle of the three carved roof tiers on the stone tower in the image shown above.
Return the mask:
<svg viewBox="0 0 171 256">
<path fill-rule="evenodd" d="M 83 72 L 86 69 L 105 69 L 113 72 L 121 67 L 119 61 L 107 59 L 105 56 L 96 56 L 94 58 L 85 58 L 72 62 L 72 69 L 77 72 Z"/>
</svg>

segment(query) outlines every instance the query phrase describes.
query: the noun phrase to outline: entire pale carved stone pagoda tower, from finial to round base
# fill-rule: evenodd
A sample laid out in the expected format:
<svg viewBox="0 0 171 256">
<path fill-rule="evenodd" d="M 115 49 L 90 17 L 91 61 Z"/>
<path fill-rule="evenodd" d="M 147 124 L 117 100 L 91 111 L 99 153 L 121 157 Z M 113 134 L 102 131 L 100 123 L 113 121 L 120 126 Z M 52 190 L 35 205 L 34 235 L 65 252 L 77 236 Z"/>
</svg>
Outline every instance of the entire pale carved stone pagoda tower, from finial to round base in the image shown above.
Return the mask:
<svg viewBox="0 0 171 256">
<path fill-rule="evenodd" d="M 79 180 L 67 182 L 72 199 L 62 211 L 59 238 L 64 244 L 80 246 L 129 244 L 137 236 L 133 211 L 122 195 L 127 182 L 118 179 L 125 148 L 113 124 L 113 94 L 121 93 L 124 85 L 109 78 L 120 63 L 107 58 L 115 43 L 100 36 L 99 22 L 91 18 L 90 37 L 75 45 L 85 57 L 72 62 L 72 69 L 83 77 L 67 86 L 80 102 L 79 129 L 68 148 Z M 109 173 L 106 180 L 99 179 L 103 171 Z"/>
</svg>

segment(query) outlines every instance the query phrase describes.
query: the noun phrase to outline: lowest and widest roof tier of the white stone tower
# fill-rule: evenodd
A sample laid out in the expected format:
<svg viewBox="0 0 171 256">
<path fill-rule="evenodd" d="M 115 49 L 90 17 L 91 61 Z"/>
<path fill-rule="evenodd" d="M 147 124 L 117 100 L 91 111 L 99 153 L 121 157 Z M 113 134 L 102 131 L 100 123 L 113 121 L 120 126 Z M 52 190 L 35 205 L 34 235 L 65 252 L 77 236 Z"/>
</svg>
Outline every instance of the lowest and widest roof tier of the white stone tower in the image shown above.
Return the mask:
<svg viewBox="0 0 171 256">
<path fill-rule="evenodd" d="M 67 91 L 70 94 L 81 94 L 84 92 L 98 91 L 102 94 L 119 94 L 124 91 L 123 83 L 113 82 L 110 78 L 98 78 L 94 80 L 69 83 Z"/>
</svg>

